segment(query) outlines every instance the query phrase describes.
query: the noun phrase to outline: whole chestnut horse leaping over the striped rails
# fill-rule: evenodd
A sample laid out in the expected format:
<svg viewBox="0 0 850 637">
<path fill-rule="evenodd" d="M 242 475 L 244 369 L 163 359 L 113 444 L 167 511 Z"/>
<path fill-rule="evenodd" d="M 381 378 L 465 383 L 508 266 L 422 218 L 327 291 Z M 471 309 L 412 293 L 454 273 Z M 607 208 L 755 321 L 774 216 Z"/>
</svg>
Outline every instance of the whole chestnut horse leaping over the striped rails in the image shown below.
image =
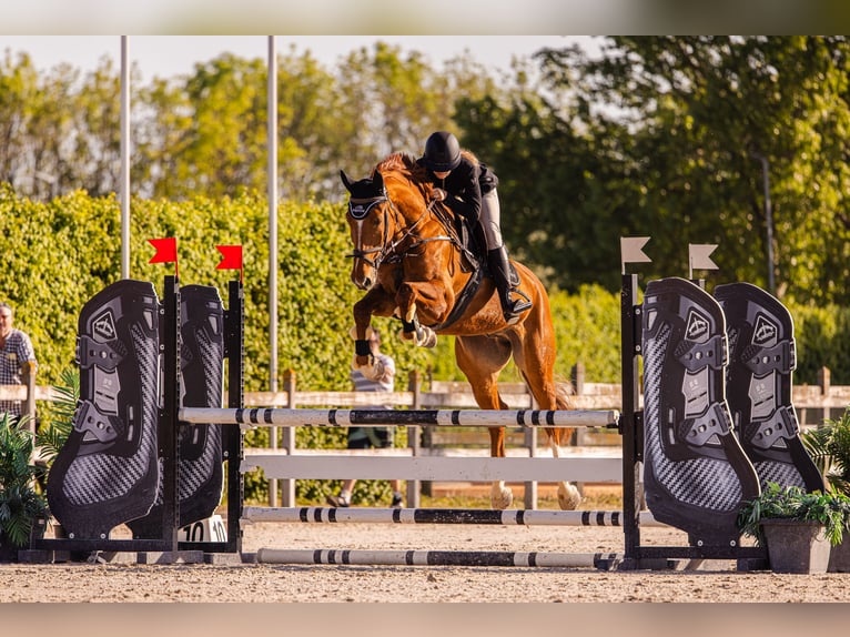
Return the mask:
<svg viewBox="0 0 850 637">
<path fill-rule="evenodd" d="M 392 154 L 380 162 L 371 176 L 352 181 L 341 171 L 348 190 L 346 220 L 354 259 L 351 279 L 366 294 L 354 304 L 352 335 L 355 365 L 364 375 L 372 371 L 368 334 L 372 316 L 397 316 L 402 336 L 433 347 L 436 334 L 453 335 L 455 357 L 472 385 L 482 410 L 507 410 L 498 392 L 499 372 L 510 356 L 542 410 L 569 408 L 567 396 L 554 381 L 555 332 L 549 300 L 540 281 L 520 263 L 514 263 L 519 289 L 533 302 L 518 322 L 508 325 L 502 314 L 495 285 L 482 280 L 459 316 L 452 315 L 455 301 L 469 281 L 463 247 L 452 213 L 432 198 L 425 170 L 406 154 Z M 466 267 L 466 270 L 469 270 Z M 505 456 L 505 429 L 488 427 L 490 455 Z M 546 428 L 555 457 L 571 428 Z M 504 481 L 493 483 L 493 508 L 510 506 L 513 494 Z M 571 484 L 558 485 L 561 508 L 574 509 L 580 496 Z"/>
</svg>

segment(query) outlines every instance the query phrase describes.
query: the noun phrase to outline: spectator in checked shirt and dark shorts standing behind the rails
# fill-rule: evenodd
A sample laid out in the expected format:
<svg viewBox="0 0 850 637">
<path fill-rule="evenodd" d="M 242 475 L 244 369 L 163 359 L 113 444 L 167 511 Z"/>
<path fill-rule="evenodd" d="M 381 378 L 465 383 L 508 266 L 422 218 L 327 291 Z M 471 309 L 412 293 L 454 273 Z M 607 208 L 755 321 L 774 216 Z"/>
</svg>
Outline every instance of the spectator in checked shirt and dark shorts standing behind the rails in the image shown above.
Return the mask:
<svg viewBox="0 0 850 637">
<path fill-rule="evenodd" d="M 354 383 L 355 392 L 392 392 L 395 383 L 395 361 L 391 356 L 381 352 L 381 333 L 373 328 L 368 338 L 370 350 L 374 357 L 374 365 L 377 368 L 375 381 L 366 378 L 358 370 L 352 366 L 351 378 Z M 386 405 L 372 405 L 365 407 L 368 410 L 388 410 Z M 348 427 L 350 449 L 367 448 L 387 448 L 393 446 L 394 427 Z M 354 491 L 356 479 L 350 478 L 343 483 L 343 488 L 338 496 L 328 495 L 325 499 L 327 504 L 336 507 L 351 506 L 351 496 Z M 398 479 L 389 481 L 393 488 L 393 508 L 404 506 L 402 497 L 401 482 Z"/>
</svg>

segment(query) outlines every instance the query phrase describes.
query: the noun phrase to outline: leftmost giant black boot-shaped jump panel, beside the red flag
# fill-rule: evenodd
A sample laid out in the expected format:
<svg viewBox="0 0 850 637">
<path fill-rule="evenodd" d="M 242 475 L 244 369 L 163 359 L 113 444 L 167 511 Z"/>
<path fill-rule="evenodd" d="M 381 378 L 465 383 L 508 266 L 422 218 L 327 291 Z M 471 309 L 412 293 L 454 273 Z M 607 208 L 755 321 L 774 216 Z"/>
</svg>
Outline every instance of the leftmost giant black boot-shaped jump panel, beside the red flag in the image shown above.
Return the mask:
<svg viewBox="0 0 850 637">
<path fill-rule="evenodd" d="M 144 516 L 160 479 L 160 303 L 152 283 L 129 279 L 80 312 L 80 401 L 48 475 L 50 512 L 72 539 L 103 539 Z"/>
</svg>

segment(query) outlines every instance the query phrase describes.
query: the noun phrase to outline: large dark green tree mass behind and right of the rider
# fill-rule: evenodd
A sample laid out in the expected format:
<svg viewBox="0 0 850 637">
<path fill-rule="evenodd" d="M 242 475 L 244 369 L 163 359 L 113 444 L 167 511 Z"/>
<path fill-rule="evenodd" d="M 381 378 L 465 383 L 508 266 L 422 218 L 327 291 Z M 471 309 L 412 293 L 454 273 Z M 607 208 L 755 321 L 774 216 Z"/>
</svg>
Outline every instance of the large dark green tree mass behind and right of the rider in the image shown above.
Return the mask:
<svg viewBox="0 0 850 637">
<path fill-rule="evenodd" d="M 461 100 L 462 143 L 492 164 L 504 234 L 547 284 L 618 287 L 617 241 L 649 235 L 650 277 L 717 243 L 729 281 L 850 300 L 846 37 L 616 37 L 537 54 L 539 85 Z M 771 291 L 772 292 L 772 291 Z"/>
</svg>

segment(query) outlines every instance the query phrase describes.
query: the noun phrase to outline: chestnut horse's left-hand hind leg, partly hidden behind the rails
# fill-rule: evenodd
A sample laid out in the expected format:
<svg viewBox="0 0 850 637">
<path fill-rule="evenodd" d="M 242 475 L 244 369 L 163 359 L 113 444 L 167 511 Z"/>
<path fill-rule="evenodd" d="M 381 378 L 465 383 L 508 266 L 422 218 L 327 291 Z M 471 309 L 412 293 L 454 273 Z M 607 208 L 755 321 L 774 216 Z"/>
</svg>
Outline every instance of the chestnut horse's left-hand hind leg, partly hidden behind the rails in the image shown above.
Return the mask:
<svg viewBox="0 0 850 637">
<path fill-rule="evenodd" d="M 496 381 L 510 360 L 510 343 L 496 336 L 458 336 L 455 338 L 455 358 L 473 390 L 475 402 L 482 410 L 507 410 L 498 394 Z M 490 456 L 505 457 L 505 427 L 488 427 Z M 505 509 L 514 502 L 514 494 L 505 481 L 490 485 L 490 506 Z"/>
</svg>

